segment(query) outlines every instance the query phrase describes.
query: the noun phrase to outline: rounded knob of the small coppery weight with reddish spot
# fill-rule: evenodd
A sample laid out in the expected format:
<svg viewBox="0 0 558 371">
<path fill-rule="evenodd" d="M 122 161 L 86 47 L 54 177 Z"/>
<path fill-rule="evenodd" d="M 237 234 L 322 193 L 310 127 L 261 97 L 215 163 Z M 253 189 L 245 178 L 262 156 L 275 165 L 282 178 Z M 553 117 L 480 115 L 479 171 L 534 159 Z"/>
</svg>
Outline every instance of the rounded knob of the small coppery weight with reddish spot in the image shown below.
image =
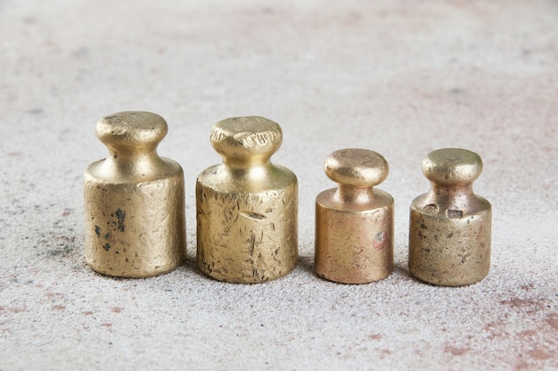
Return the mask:
<svg viewBox="0 0 558 371">
<path fill-rule="evenodd" d="M 327 156 L 324 172 L 332 181 L 341 185 L 368 188 L 379 185 L 388 177 L 388 161 L 380 153 L 347 148 Z"/>
</svg>

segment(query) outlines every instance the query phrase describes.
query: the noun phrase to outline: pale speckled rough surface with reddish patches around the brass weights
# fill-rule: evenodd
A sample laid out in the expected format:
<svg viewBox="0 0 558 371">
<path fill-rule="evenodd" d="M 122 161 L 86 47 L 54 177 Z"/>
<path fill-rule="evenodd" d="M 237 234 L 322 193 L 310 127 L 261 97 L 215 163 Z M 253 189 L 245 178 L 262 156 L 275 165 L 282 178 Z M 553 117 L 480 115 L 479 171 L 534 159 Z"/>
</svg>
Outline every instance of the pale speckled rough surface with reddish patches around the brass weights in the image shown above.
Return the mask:
<svg viewBox="0 0 558 371">
<path fill-rule="evenodd" d="M 188 262 L 150 279 L 84 264 L 81 176 L 115 111 L 168 120 L 185 169 Z M 282 124 L 300 179 L 300 263 L 258 285 L 195 268 L 194 182 L 213 122 Z M 0 0 L 0 369 L 558 369 L 558 3 Z M 382 153 L 396 270 L 313 273 L 321 166 Z M 480 154 L 489 276 L 462 288 L 406 268 L 423 155 Z"/>
</svg>

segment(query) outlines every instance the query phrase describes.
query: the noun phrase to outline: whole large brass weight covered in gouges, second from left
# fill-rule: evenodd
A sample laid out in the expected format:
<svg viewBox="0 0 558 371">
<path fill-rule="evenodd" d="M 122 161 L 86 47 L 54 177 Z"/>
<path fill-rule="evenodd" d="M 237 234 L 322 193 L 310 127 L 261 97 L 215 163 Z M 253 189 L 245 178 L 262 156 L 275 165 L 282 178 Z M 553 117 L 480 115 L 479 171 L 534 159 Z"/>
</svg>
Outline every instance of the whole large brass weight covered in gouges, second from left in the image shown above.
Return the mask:
<svg viewBox="0 0 558 371">
<path fill-rule="evenodd" d="M 286 275 L 298 260 L 298 183 L 271 163 L 283 141 L 262 117 L 221 120 L 210 134 L 223 163 L 196 182 L 197 263 L 220 281 L 256 284 Z"/>
</svg>

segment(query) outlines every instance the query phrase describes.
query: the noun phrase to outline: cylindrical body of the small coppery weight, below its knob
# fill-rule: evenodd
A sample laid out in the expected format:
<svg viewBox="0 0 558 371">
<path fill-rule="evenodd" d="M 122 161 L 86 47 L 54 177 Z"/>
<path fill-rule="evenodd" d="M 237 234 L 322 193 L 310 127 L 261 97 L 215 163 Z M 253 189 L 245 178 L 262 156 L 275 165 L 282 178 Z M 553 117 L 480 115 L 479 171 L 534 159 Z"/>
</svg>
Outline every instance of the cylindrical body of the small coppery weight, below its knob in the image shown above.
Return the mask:
<svg viewBox="0 0 558 371">
<path fill-rule="evenodd" d="M 373 190 L 373 209 L 335 201 L 336 189 L 316 198 L 316 274 L 345 284 L 365 284 L 393 271 L 393 198 Z"/>
</svg>

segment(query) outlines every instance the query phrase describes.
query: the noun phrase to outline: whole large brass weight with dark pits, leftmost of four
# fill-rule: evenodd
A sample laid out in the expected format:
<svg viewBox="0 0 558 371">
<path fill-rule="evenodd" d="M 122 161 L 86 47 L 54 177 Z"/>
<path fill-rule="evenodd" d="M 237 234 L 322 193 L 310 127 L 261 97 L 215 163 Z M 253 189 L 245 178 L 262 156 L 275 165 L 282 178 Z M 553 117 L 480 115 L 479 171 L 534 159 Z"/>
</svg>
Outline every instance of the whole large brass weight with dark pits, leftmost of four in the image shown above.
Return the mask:
<svg viewBox="0 0 558 371">
<path fill-rule="evenodd" d="M 128 111 L 97 122 L 109 156 L 84 175 L 86 263 L 109 276 L 166 273 L 185 260 L 184 173 L 161 158 L 167 122 Z"/>
</svg>

